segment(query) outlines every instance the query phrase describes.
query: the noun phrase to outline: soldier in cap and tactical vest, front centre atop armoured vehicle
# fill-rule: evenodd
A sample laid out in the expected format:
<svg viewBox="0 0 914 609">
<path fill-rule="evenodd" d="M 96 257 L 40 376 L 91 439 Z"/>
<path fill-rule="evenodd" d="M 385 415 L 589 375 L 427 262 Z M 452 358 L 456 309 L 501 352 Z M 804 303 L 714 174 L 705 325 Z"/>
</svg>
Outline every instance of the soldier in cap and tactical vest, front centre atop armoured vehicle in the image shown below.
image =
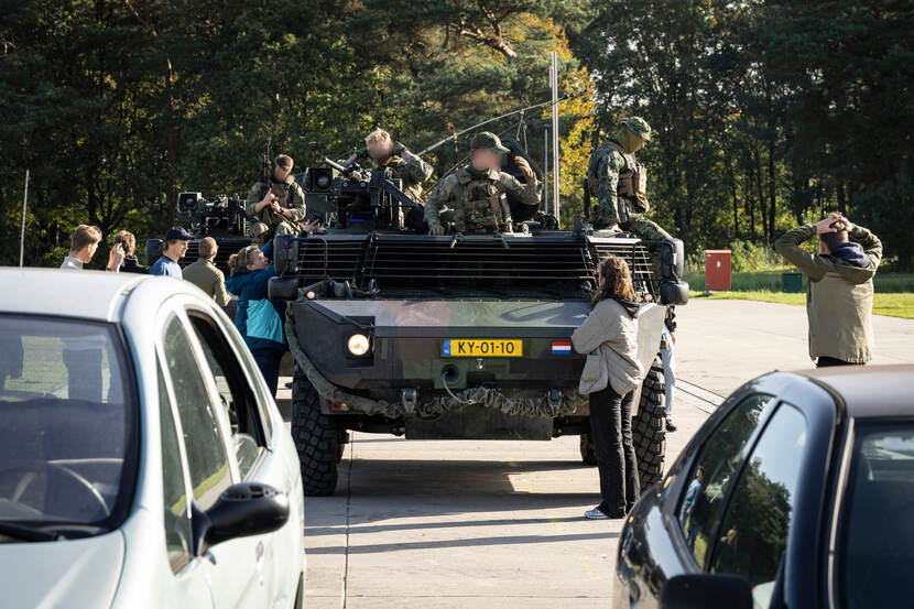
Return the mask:
<svg viewBox="0 0 914 609">
<path fill-rule="evenodd" d="M 508 149 L 498 135 L 483 131 L 470 143 L 470 164 L 444 178 L 425 206 L 429 235 L 444 235 L 442 208 L 453 210 L 455 228 L 460 231 L 482 230 L 513 232 L 507 195 L 524 205 L 540 205 L 540 185 L 523 156 L 513 157 L 526 184 L 498 170 Z"/>
</svg>

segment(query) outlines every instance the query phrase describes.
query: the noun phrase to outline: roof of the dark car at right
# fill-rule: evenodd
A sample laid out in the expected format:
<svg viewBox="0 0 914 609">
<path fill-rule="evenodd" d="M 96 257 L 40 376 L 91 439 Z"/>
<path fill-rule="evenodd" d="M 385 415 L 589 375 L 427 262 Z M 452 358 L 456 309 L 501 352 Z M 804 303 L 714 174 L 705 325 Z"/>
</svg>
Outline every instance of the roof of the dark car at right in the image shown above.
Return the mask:
<svg viewBox="0 0 914 609">
<path fill-rule="evenodd" d="M 914 416 L 914 365 L 836 366 L 797 372 L 839 395 L 855 418 Z"/>
</svg>

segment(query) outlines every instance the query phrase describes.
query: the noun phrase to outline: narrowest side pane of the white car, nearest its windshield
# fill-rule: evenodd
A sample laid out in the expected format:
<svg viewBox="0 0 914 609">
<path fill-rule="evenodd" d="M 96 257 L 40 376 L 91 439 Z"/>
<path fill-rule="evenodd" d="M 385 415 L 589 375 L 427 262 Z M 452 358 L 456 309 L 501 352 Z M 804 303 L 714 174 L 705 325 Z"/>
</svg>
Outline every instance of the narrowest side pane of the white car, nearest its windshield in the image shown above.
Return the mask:
<svg viewBox="0 0 914 609">
<path fill-rule="evenodd" d="M 177 573 L 191 562 L 191 519 L 187 514 L 187 494 L 181 448 L 175 427 L 172 402 L 162 367 L 159 371 L 159 424 L 162 437 L 162 497 L 164 501 L 165 551 L 172 572 Z"/>
</svg>

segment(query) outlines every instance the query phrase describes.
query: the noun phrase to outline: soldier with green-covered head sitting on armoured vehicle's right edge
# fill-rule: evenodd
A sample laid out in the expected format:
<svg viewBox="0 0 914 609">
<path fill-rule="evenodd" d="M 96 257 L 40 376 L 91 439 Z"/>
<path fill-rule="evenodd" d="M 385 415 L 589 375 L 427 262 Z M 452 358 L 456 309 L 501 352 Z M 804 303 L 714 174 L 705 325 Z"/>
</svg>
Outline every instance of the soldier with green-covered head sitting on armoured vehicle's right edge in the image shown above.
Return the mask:
<svg viewBox="0 0 914 609">
<path fill-rule="evenodd" d="M 651 127 L 639 117 L 622 119 L 616 135 L 594 151 L 587 163 L 587 188 L 599 203 L 594 206 L 594 228 L 624 230 L 645 241 L 660 241 L 670 233 L 644 217 L 651 208 L 645 195 L 648 173 L 635 161 L 651 139 Z"/>
</svg>

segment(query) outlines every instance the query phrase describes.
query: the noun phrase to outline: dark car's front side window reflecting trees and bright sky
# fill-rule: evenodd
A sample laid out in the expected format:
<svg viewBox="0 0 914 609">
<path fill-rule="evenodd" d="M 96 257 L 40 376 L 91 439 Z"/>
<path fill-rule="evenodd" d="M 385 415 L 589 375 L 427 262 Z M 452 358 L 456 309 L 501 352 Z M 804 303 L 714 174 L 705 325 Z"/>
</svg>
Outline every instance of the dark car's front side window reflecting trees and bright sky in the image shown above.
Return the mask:
<svg viewBox="0 0 914 609">
<path fill-rule="evenodd" d="M 798 464 L 806 447 L 806 418 L 782 402 L 742 468 L 727 505 L 711 558 L 711 573 L 746 577 L 768 607 L 787 547 Z M 759 602 L 759 596 L 764 602 Z"/>
</svg>

